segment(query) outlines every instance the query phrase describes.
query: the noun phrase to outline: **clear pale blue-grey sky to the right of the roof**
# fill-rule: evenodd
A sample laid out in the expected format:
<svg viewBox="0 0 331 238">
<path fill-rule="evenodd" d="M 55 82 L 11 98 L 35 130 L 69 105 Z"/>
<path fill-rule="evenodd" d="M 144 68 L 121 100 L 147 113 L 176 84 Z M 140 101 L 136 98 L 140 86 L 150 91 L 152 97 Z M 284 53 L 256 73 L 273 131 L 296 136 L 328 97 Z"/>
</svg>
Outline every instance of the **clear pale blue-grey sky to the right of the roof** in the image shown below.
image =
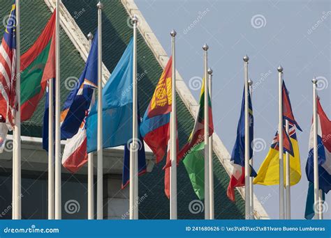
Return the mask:
<svg viewBox="0 0 331 238">
<path fill-rule="evenodd" d="M 214 1 L 135 0 L 156 37 L 171 54 L 170 30 L 177 31 L 177 70 L 198 100 L 193 81 L 203 76 L 203 49 L 209 45 L 209 66 L 214 70 L 213 113 L 216 133 L 229 152 L 236 136 L 244 84 L 242 57 L 249 56 L 253 80 L 255 138 L 262 148 L 254 154 L 254 168 L 270 148 L 278 125 L 277 67 L 284 80 L 297 122 L 302 179 L 292 187 L 292 218 L 302 219 L 307 196 L 304 168 L 312 116 L 311 79 L 320 80 L 318 95 L 331 118 L 331 1 Z M 272 219 L 279 217 L 278 186 L 254 187 Z M 326 196 L 331 219 L 331 196 Z"/>
</svg>

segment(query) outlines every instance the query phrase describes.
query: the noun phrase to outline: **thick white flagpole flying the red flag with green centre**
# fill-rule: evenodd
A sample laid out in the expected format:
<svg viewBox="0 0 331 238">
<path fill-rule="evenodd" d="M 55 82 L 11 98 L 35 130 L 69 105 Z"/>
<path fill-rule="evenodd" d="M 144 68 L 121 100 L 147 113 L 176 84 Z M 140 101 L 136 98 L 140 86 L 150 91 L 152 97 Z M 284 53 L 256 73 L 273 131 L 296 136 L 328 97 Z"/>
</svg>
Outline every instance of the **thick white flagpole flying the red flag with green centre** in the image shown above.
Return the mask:
<svg viewBox="0 0 331 238">
<path fill-rule="evenodd" d="M 61 113 L 61 93 L 60 93 L 60 0 L 57 0 L 56 6 L 56 49 L 55 49 L 55 219 L 61 219 L 61 129 L 60 129 L 60 113 Z"/>
</svg>

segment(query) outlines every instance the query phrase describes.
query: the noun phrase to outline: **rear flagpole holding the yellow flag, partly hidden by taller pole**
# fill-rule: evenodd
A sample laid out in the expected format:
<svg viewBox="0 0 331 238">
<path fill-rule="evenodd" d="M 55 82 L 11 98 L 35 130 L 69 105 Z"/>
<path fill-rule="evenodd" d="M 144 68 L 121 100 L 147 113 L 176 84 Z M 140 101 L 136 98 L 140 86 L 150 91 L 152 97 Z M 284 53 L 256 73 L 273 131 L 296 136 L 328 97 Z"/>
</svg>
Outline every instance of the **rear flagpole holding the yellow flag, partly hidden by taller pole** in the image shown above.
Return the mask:
<svg viewBox="0 0 331 238">
<path fill-rule="evenodd" d="M 289 93 L 288 93 L 289 94 Z M 290 126 L 288 125 L 288 120 L 285 121 L 285 129 L 286 133 L 290 134 Z M 286 172 L 286 180 L 285 180 L 285 212 L 286 219 L 290 219 L 290 154 L 286 151 L 285 154 L 285 172 Z"/>
</svg>

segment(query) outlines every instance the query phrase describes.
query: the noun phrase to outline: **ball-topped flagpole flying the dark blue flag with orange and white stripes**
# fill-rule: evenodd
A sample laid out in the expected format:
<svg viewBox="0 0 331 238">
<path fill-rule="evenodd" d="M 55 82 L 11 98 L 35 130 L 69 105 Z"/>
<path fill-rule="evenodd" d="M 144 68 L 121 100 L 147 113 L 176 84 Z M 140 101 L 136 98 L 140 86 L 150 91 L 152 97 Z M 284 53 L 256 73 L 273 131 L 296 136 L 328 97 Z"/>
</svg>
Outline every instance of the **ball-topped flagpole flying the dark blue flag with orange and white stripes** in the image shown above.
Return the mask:
<svg viewBox="0 0 331 238">
<path fill-rule="evenodd" d="M 102 8 L 101 1 L 98 8 L 98 169 L 96 183 L 96 219 L 103 219 L 103 121 L 102 121 Z"/>
</svg>

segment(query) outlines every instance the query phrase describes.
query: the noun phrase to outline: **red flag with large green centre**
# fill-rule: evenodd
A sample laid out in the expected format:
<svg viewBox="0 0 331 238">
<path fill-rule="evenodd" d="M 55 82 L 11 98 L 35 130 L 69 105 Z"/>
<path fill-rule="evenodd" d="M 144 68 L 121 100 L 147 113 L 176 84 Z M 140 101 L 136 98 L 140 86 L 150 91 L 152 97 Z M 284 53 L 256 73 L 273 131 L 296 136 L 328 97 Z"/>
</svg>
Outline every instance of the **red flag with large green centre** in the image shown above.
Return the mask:
<svg viewBox="0 0 331 238">
<path fill-rule="evenodd" d="M 34 45 L 21 57 L 21 120 L 29 120 L 55 78 L 55 11 Z"/>
</svg>

